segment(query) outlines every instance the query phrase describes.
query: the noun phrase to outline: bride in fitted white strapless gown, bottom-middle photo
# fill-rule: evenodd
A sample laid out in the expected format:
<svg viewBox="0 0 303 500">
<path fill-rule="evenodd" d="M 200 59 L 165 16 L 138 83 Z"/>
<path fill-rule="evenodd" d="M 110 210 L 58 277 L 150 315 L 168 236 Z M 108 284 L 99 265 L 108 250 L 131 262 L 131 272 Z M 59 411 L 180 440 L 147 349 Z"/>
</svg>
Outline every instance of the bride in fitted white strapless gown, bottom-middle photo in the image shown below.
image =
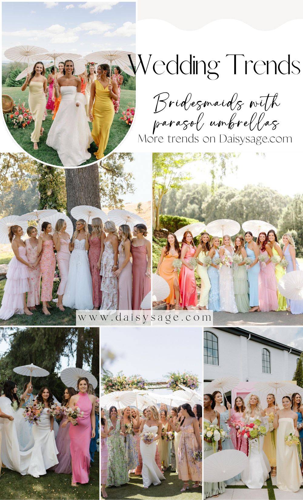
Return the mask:
<svg viewBox="0 0 303 500">
<path fill-rule="evenodd" d="M 156 441 L 161 438 L 162 423 L 159 421 L 158 410 L 155 406 L 147 408 L 147 419 L 143 419 L 139 433 L 152 432 L 154 439 L 151 444 L 145 444 L 140 440 L 140 452 L 142 456 L 142 479 L 144 488 L 152 484 L 160 484 L 164 475 L 160 472 L 155 463 Z"/>
</svg>

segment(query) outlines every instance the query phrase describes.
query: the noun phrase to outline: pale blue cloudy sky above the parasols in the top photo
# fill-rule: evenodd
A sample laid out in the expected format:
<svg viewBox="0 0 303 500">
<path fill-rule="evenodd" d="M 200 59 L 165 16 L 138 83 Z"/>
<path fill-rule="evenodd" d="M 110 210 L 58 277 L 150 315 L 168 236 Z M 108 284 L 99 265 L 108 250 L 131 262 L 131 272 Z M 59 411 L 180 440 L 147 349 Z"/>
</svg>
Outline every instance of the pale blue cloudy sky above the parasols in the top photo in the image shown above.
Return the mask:
<svg viewBox="0 0 303 500">
<path fill-rule="evenodd" d="M 81 55 L 135 51 L 135 2 L 2 2 L 2 61 L 15 45 Z"/>
</svg>

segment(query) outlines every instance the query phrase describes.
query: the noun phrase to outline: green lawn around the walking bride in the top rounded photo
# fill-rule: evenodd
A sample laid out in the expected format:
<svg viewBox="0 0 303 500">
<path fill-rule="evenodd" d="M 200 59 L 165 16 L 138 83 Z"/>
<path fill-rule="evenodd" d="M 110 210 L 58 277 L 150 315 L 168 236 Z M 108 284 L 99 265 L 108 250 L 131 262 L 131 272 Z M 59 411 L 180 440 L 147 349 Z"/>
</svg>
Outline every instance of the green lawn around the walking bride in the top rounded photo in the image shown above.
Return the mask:
<svg viewBox="0 0 303 500">
<path fill-rule="evenodd" d="M 14 100 L 15 104 L 17 104 L 18 100 L 21 99 L 21 102 L 24 101 L 26 107 L 28 106 L 28 87 L 26 88 L 26 90 L 24 90 L 24 92 L 22 92 L 21 87 L 2 86 L 2 94 L 10 95 L 10 97 L 12 97 L 12 99 Z M 115 113 L 113 117 L 113 122 L 109 132 L 107 147 L 104 153 L 105 155 L 110 153 L 121 142 L 121 140 L 125 137 L 126 133 L 128 132 L 129 125 L 126 125 L 124 121 L 119 119 L 122 114 L 122 110 L 126 110 L 128 105 L 130 106 L 135 105 L 135 90 L 121 90 L 119 112 L 117 114 Z M 52 124 L 50 111 L 47 110 L 47 113 L 48 115 L 45 121 L 43 121 L 42 123 L 42 126 L 44 128 L 44 133 L 43 136 L 40 137 L 37 150 L 33 149 L 33 143 L 30 141 L 30 134 L 34 128 L 33 121 L 30 123 L 30 125 L 26 126 L 24 129 L 13 128 L 9 119 L 7 123 L 5 116 L 5 124 L 7 125 L 7 128 L 11 133 L 12 137 L 24 149 L 24 151 L 28 152 L 29 154 L 31 154 L 31 156 L 34 156 L 38 160 L 44 161 L 45 163 L 50 163 L 52 165 L 57 165 L 57 166 L 63 166 L 58 157 L 57 152 L 51 147 L 48 147 L 46 145 L 47 133 Z M 91 129 L 92 123 L 88 122 L 88 124 Z M 91 153 L 91 157 L 90 159 L 82 163 L 81 166 L 96 161 L 96 158 L 93 154 L 96 150 L 97 147 L 95 143 L 92 142 L 90 144 L 90 148 L 88 149 L 88 151 Z"/>
</svg>

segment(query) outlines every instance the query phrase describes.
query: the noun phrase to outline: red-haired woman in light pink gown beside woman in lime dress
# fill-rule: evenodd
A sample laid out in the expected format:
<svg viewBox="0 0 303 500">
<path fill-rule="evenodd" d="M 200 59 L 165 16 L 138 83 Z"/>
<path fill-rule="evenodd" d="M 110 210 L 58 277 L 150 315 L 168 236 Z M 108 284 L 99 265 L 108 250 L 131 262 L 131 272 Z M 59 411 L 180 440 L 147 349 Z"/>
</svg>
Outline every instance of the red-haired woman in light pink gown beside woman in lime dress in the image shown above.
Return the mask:
<svg viewBox="0 0 303 500">
<path fill-rule="evenodd" d="M 273 253 L 265 232 L 259 233 L 256 244 L 260 249 L 259 255 L 265 255 L 266 257 L 265 262 L 259 262 L 259 310 L 262 312 L 275 311 L 278 308 L 275 266 L 270 260 Z"/>
</svg>

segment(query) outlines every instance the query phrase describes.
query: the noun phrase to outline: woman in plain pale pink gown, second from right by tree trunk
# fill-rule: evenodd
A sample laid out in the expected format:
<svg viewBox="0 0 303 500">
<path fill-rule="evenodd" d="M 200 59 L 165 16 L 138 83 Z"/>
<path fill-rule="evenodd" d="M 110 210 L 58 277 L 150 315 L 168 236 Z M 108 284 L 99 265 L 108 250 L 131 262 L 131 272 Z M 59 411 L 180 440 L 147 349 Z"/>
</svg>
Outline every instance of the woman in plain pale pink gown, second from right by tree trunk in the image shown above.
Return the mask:
<svg viewBox="0 0 303 500">
<path fill-rule="evenodd" d="M 130 262 L 131 233 L 129 225 L 120 225 L 118 239 L 119 267 L 114 272 L 118 279 L 118 310 L 131 310 L 132 265 Z"/>
</svg>

